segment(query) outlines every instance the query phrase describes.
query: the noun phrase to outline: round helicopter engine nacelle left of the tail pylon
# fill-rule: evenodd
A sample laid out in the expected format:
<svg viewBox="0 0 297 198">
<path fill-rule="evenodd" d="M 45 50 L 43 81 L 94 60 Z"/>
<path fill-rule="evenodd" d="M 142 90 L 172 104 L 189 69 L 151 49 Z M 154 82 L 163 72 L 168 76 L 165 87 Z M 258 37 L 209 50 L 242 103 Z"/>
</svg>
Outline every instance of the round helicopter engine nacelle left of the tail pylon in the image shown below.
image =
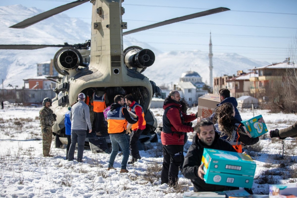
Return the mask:
<svg viewBox="0 0 297 198">
<path fill-rule="evenodd" d="M 80 52 L 73 47 L 63 47 L 57 51 L 53 59 L 53 65 L 61 75 L 76 73 L 78 66 L 85 66 Z"/>
</svg>

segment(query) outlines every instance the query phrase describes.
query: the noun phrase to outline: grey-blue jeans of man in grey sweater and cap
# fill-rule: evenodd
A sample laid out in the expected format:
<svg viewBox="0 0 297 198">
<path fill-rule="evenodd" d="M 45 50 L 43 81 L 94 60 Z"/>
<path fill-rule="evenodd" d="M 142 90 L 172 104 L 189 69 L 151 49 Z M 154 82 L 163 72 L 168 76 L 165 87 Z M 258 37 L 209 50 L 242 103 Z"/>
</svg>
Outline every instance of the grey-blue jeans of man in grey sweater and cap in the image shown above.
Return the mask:
<svg viewBox="0 0 297 198">
<path fill-rule="evenodd" d="M 73 160 L 75 145 L 77 142 L 77 161 L 81 161 L 83 159 L 83 147 L 85 145 L 86 140 L 86 130 L 71 130 L 71 145 L 68 152 L 68 161 Z"/>
</svg>

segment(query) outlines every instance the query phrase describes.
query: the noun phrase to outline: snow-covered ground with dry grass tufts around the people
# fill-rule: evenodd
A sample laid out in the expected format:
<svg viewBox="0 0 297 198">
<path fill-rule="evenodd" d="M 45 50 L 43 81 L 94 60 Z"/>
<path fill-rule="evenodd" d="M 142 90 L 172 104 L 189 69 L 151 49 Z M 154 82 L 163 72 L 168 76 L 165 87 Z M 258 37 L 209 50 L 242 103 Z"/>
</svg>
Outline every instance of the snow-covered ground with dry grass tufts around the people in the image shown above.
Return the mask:
<svg viewBox="0 0 297 198">
<path fill-rule="evenodd" d="M 129 173 L 119 173 L 121 156 L 116 157 L 116 170 L 107 171 L 109 154 L 84 151 L 84 163 L 64 160 L 65 148 L 51 149 L 53 158 L 42 156 L 42 136 L 38 112 L 41 107 L 20 107 L 5 104 L 0 110 L 0 195 L 1 197 L 182 197 L 183 190 L 192 191 L 189 179 L 179 174 L 181 190 L 161 185 L 162 145 L 151 144 L 140 151 L 142 159 L 127 165 Z M 151 109 L 162 126 L 162 109 Z M 195 113 L 196 107 L 188 113 Z M 240 110 L 243 119 L 253 117 L 251 110 Z M 297 120 L 295 114 L 263 115 L 268 129 L 284 128 Z M 195 125 L 196 123 L 194 123 Z M 157 131 L 159 131 L 157 129 Z M 193 135 L 193 134 L 192 134 Z M 191 137 L 185 145 L 186 151 Z M 257 163 L 253 184 L 255 194 L 267 194 L 268 183 L 297 182 L 296 139 L 271 140 L 267 134 L 248 151 Z M 53 145 L 54 142 L 52 142 Z M 186 154 L 186 153 L 184 153 Z M 75 153 L 76 155 L 76 153 Z M 131 157 L 129 158 L 131 159 Z"/>
</svg>

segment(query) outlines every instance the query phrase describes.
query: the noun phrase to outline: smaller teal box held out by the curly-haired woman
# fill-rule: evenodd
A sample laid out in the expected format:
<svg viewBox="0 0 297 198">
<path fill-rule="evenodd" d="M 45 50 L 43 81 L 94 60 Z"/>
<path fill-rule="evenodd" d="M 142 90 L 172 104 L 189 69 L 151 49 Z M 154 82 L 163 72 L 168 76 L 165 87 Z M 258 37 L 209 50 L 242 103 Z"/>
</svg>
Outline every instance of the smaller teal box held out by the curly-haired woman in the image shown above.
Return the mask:
<svg viewBox="0 0 297 198">
<path fill-rule="evenodd" d="M 241 121 L 241 123 L 244 124 L 247 132 L 249 132 L 254 138 L 268 132 L 262 115 L 258 115 L 254 118 Z"/>
</svg>

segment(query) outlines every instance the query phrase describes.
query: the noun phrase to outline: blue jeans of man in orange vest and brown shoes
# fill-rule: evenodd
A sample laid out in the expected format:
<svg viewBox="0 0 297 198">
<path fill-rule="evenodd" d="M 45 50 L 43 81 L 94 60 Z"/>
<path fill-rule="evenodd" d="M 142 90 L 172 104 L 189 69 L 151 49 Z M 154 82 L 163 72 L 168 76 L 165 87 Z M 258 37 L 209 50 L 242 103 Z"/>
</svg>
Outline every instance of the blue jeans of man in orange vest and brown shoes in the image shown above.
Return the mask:
<svg viewBox="0 0 297 198">
<path fill-rule="evenodd" d="M 110 141 L 112 145 L 112 151 L 110 153 L 109 164 L 108 167 L 113 167 L 114 160 L 116 159 L 116 155 L 119 153 L 119 146 L 123 152 L 123 158 L 121 163 L 121 169 L 127 169 L 127 162 L 129 158 L 129 142 L 127 140 L 126 134 L 109 134 Z"/>
</svg>

